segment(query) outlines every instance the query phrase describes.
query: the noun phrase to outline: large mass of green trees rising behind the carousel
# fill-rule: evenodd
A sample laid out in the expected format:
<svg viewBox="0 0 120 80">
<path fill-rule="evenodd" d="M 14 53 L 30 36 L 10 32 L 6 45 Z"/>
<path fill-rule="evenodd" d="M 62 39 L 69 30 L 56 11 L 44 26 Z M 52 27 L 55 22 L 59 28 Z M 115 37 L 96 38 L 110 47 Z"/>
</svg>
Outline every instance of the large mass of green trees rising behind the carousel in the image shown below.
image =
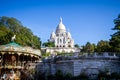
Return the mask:
<svg viewBox="0 0 120 80">
<path fill-rule="evenodd" d="M 9 43 L 14 34 L 16 35 L 15 42 L 18 44 L 40 48 L 40 38 L 35 36 L 30 29 L 24 27 L 20 21 L 5 16 L 0 17 L 0 45 Z"/>
</svg>

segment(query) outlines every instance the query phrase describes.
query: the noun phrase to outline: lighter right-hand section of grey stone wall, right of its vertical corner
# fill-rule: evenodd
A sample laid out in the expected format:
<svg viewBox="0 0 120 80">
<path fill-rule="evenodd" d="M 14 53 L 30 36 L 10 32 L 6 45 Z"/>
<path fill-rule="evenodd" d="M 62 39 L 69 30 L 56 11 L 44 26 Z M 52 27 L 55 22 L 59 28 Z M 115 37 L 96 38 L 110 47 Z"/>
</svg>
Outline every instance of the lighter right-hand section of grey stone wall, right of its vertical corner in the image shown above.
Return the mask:
<svg viewBox="0 0 120 80">
<path fill-rule="evenodd" d="M 112 72 L 120 72 L 120 61 L 118 59 L 84 59 L 74 60 L 74 76 L 84 72 L 91 75 L 96 75 L 100 71 L 108 70 Z"/>
</svg>

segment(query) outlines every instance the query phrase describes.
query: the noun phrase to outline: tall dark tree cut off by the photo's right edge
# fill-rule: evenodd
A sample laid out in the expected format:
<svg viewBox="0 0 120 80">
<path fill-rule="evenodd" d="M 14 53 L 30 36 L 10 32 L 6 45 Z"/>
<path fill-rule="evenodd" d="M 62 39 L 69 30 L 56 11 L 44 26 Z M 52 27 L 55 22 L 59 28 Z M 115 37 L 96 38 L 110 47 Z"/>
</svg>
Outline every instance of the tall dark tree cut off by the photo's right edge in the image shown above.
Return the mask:
<svg viewBox="0 0 120 80">
<path fill-rule="evenodd" d="M 115 26 L 112 30 L 115 30 L 116 32 L 113 35 L 111 35 L 111 51 L 120 52 L 120 14 L 116 19 L 114 19 L 114 24 Z"/>
</svg>

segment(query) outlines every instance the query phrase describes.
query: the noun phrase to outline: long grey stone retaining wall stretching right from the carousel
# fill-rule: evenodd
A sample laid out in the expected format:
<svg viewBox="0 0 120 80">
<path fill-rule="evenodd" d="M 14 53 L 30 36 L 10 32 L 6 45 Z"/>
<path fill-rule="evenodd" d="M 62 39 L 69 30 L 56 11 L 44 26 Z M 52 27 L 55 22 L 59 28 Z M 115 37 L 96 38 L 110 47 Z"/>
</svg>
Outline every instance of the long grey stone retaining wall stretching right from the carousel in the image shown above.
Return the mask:
<svg viewBox="0 0 120 80">
<path fill-rule="evenodd" d="M 100 71 L 120 73 L 120 59 L 116 56 L 63 58 L 47 59 L 39 63 L 36 69 L 46 74 L 55 74 L 56 71 L 61 70 L 64 74 L 71 73 L 73 76 L 78 76 L 83 72 L 88 76 L 95 76 Z"/>
</svg>

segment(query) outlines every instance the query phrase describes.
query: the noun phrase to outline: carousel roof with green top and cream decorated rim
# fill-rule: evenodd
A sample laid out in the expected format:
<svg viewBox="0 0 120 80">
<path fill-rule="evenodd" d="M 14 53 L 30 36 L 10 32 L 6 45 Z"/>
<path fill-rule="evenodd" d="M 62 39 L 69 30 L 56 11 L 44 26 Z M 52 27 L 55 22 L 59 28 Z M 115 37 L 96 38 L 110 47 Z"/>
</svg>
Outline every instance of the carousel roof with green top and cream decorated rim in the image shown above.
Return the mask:
<svg viewBox="0 0 120 80">
<path fill-rule="evenodd" d="M 41 52 L 39 49 L 33 49 L 31 47 L 22 47 L 21 45 L 15 42 L 10 42 L 6 45 L 0 45 L 0 52 L 6 52 L 6 51 L 37 55 L 37 56 L 41 55 Z"/>
</svg>

